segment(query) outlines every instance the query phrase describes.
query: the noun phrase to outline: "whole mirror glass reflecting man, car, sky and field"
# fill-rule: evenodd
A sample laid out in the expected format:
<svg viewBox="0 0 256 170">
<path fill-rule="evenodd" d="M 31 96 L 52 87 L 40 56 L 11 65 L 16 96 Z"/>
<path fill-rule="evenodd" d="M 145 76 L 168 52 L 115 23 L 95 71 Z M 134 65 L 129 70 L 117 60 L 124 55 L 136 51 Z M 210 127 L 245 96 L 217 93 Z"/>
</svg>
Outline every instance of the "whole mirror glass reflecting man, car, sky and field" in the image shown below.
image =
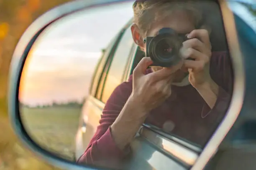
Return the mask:
<svg viewBox="0 0 256 170">
<path fill-rule="evenodd" d="M 172 160 L 157 156 L 164 150 L 189 167 L 225 117 L 232 90 L 216 2 L 128 1 L 73 13 L 38 36 L 19 111 L 31 139 L 65 160 L 159 169 L 161 157 Z M 177 146 L 196 156 L 179 157 Z"/>
</svg>

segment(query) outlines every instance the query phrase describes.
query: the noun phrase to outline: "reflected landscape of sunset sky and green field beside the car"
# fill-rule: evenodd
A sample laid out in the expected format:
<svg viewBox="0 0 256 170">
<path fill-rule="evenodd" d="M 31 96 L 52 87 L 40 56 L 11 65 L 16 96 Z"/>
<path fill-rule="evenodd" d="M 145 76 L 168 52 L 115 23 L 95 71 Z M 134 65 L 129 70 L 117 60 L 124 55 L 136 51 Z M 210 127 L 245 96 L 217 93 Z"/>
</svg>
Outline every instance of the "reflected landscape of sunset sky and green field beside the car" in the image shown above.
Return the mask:
<svg viewBox="0 0 256 170">
<path fill-rule="evenodd" d="M 38 37 L 23 68 L 19 101 L 23 124 L 40 146 L 75 161 L 75 138 L 85 132 L 81 109 L 93 72 L 131 12 L 127 2 L 84 10 L 56 21 Z"/>
</svg>

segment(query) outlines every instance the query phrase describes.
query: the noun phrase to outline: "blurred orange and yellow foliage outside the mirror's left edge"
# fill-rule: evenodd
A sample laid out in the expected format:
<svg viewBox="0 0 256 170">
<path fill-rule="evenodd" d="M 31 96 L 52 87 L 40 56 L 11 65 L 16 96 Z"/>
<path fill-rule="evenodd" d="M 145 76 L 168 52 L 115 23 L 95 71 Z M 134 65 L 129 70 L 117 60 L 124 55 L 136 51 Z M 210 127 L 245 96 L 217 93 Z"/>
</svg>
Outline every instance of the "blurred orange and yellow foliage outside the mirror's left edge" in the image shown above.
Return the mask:
<svg viewBox="0 0 256 170">
<path fill-rule="evenodd" d="M 18 142 L 8 120 L 8 72 L 15 46 L 28 26 L 47 10 L 70 0 L 0 0 L 0 170 L 58 170 Z"/>
</svg>

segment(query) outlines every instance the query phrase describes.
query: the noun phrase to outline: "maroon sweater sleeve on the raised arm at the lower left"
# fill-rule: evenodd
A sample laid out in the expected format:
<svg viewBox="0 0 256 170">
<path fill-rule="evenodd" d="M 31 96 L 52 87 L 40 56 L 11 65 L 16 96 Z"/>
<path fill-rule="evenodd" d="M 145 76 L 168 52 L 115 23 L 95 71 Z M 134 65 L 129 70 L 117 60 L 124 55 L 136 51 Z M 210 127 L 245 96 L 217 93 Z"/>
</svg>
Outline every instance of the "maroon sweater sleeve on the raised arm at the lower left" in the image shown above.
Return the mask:
<svg viewBox="0 0 256 170">
<path fill-rule="evenodd" d="M 77 163 L 115 168 L 128 155 L 130 147 L 128 146 L 125 150 L 120 150 L 116 146 L 111 135 L 110 125 L 118 117 L 131 92 L 132 76 L 130 76 L 128 82 L 123 82 L 116 87 L 110 95 L 102 111 L 100 125 L 98 125 L 95 135 Z"/>
</svg>

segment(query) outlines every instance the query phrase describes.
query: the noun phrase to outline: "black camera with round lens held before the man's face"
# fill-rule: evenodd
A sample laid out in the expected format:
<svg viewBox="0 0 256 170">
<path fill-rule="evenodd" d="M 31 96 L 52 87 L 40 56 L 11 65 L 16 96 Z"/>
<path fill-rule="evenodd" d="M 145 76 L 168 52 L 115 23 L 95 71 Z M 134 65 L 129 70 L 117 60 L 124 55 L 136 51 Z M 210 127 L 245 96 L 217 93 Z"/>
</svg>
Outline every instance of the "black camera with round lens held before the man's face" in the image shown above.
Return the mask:
<svg viewBox="0 0 256 170">
<path fill-rule="evenodd" d="M 155 37 L 146 37 L 146 57 L 151 57 L 152 65 L 171 67 L 182 58 L 180 48 L 188 40 L 185 34 L 177 34 L 172 28 L 162 28 Z"/>
</svg>

